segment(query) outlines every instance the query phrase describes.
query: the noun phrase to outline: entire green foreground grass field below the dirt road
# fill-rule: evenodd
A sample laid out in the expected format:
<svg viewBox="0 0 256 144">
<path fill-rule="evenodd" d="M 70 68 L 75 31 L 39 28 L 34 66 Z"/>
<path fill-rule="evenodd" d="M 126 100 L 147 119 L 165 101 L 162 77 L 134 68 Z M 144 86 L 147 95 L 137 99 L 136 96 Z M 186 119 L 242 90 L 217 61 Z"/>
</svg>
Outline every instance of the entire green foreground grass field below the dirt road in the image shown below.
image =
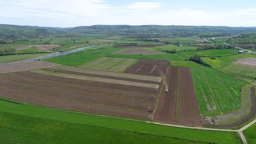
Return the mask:
<svg viewBox="0 0 256 144">
<path fill-rule="evenodd" d="M 18 141 L 21 143 L 37 142 L 38 144 L 192 144 L 187 140 L 193 140 L 205 143 L 216 141 L 218 144 L 239 144 L 235 132 L 154 125 L 111 117 L 49 110 L 2 100 L 0 100 L 0 111 L 0 141 L 5 143 Z"/>
</svg>

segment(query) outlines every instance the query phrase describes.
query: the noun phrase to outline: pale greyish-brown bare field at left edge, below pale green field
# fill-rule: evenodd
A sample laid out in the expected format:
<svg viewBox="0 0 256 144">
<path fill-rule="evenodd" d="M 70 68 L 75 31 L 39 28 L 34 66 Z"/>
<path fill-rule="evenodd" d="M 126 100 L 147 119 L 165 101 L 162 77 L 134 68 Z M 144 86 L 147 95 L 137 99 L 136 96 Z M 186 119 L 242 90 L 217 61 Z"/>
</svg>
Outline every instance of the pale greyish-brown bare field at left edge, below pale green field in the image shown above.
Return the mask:
<svg viewBox="0 0 256 144">
<path fill-rule="evenodd" d="M 27 63 L 8 63 L 0 65 L 0 74 L 3 73 L 13 73 L 18 71 L 27 71 L 27 70 L 35 70 L 39 68 L 48 68 L 60 66 L 60 64 L 54 64 L 51 62 L 45 61 L 33 61 Z"/>
</svg>

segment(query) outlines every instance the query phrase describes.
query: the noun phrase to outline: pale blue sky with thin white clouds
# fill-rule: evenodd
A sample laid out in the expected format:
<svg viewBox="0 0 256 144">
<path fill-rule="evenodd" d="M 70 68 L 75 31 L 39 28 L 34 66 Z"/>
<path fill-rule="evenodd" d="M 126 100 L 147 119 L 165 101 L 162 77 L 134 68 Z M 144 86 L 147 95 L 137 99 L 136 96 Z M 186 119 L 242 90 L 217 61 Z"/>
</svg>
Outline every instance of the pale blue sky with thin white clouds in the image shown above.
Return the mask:
<svg viewBox="0 0 256 144">
<path fill-rule="evenodd" d="M 256 0 L 0 0 L 0 24 L 256 27 Z"/>
</svg>

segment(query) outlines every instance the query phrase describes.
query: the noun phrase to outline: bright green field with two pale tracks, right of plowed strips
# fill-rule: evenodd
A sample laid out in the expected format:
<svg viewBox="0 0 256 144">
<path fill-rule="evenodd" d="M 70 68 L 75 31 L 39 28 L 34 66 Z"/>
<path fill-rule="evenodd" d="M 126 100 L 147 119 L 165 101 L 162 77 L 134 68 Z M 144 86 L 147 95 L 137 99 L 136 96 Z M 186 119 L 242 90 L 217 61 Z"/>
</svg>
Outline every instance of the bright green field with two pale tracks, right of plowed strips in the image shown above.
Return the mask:
<svg viewBox="0 0 256 144">
<path fill-rule="evenodd" d="M 202 116 L 228 113 L 240 107 L 245 82 L 211 68 L 191 68 Z"/>
</svg>

